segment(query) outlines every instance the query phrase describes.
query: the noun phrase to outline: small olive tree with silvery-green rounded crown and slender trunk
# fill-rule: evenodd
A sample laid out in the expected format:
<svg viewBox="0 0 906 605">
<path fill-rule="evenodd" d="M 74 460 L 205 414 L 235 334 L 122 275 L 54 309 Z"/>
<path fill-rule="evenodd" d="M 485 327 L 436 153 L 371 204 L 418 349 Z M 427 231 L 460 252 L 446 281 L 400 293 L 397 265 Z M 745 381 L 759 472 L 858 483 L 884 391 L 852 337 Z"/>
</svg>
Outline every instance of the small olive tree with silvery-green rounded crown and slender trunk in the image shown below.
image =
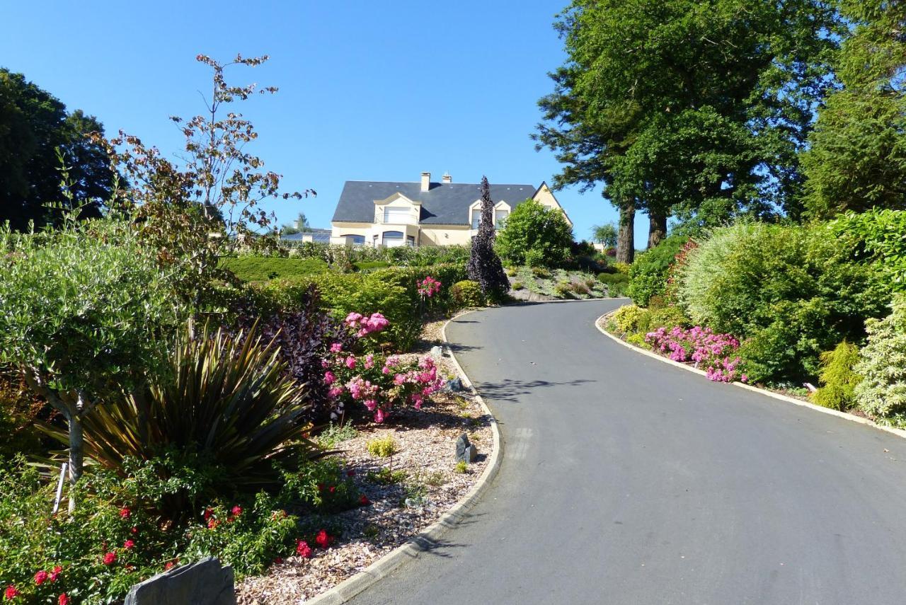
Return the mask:
<svg viewBox="0 0 906 605">
<path fill-rule="evenodd" d="M 0 363 L 66 418 L 71 482 L 82 474 L 82 419 L 165 367 L 186 315 L 172 284 L 124 220 L 0 227 Z"/>
</svg>

